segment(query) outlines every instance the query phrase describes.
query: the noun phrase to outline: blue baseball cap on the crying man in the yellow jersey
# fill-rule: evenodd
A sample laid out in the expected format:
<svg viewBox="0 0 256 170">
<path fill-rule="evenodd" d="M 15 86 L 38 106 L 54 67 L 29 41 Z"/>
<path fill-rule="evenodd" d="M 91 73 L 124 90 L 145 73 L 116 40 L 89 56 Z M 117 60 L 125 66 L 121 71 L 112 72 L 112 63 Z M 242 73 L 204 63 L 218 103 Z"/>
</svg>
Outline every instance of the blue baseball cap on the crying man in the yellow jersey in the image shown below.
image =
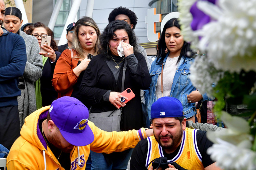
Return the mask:
<svg viewBox="0 0 256 170">
<path fill-rule="evenodd" d="M 161 97 L 151 106 L 152 119 L 182 116 L 184 116 L 182 104 L 174 97 Z"/>
</svg>

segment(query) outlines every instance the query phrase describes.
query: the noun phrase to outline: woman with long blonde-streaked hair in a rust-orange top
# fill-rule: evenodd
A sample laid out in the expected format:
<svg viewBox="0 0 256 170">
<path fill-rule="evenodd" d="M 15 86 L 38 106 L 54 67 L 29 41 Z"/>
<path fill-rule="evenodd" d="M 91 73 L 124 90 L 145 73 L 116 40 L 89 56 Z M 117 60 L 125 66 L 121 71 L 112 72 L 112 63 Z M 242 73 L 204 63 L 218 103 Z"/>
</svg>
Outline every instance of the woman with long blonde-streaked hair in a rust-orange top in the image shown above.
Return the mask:
<svg viewBox="0 0 256 170">
<path fill-rule="evenodd" d="M 100 30 L 92 18 L 85 16 L 76 22 L 72 47 L 62 52 L 54 70 L 52 84 L 58 92 L 58 98 L 71 96 L 85 104 L 79 88 L 90 62 L 87 56 L 94 56 L 98 52 L 99 35 Z"/>
</svg>

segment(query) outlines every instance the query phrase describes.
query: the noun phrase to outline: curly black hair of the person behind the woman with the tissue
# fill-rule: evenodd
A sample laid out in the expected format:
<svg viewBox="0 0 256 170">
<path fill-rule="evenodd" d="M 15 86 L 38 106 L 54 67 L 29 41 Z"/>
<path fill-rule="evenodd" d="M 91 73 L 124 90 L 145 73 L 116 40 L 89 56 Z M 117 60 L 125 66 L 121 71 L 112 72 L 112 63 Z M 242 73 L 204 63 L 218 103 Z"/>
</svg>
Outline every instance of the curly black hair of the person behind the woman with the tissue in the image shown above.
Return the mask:
<svg viewBox="0 0 256 170">
<path fill-rule="evenodd" d="M 108 22 L 114 21 L 116 16 L 120 15 L 120 14 L 127 15 L 130 18 L 131 24 L 133 24 L 133 28 L 132 29 L 134 30 L 135 26 L 137 24 L 137 19 L 138 18 L 137 18 L 136 14 L 133 11 L 131 11 L 128 8 L 122 7 L 122 6 L 113 9 L 113 11 L 111 11 L 109 13 Z"/>
</svg>

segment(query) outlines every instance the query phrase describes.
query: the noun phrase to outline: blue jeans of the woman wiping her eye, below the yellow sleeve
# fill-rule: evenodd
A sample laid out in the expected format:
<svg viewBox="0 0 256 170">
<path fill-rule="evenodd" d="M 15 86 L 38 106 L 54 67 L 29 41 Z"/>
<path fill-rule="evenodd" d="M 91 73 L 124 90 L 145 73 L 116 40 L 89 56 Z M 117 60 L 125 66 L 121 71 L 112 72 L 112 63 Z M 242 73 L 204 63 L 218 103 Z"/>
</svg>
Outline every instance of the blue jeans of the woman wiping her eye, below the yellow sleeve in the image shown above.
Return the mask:
<svg viewBox="0 0 256 170">
<path fill-rule="evenodd" d="M 92 168 L 91 170 L 111 170 L 111 169 L 126 169 L 129 159 L 131 158 L 133 149 L 128 149 L 123 152 L 115 152 L 113 163 L 108 165 L 105 157 L 101 153 L 91 151 Z"/>
</svg>

